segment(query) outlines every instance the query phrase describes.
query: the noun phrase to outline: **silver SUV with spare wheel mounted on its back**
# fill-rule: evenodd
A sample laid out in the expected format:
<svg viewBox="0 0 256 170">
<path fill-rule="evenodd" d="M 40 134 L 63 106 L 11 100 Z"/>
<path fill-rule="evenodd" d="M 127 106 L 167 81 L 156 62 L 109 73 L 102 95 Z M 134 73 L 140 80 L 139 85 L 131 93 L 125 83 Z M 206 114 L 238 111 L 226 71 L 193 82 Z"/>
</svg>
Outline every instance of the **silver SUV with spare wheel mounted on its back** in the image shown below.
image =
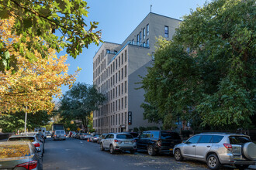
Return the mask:
<svg viewBox="0 0 256 170">
<path fill-rule="evenodd" d="M 224 164 L 247 168 L 256 163 L 256 145 L 244 134 L 196 134 L 176 145 L 173 152 L 177 161 L 195 159 L 206 162 L 210 169 L 219 169 Z"/>
</svg>

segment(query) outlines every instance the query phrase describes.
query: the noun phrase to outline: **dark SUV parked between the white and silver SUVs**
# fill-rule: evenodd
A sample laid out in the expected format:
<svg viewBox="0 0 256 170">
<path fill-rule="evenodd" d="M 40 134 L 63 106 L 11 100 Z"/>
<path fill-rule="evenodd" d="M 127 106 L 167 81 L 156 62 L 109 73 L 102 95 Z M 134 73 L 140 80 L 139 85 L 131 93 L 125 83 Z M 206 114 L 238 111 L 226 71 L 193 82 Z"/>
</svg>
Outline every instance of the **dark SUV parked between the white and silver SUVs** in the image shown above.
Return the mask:
<svg viewBox="0 0 256 170">
<path fill-rule="evenodd" d="M 137 138 L 137 148 L 147 150 L 151 156 L 161 152 L 171 153 L 179 143 L 182 139 L 172 131 L 144 131 Z"/>
</svg>

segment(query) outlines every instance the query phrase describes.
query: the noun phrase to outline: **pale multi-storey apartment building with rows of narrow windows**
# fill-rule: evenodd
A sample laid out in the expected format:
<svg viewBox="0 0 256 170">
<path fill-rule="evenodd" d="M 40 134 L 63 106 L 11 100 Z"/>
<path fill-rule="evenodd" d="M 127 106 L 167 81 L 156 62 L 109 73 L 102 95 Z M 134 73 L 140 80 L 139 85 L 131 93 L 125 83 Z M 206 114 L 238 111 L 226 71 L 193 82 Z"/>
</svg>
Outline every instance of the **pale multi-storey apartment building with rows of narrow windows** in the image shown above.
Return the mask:
<svg viewBox="0 0 256 170">
<path fill-rule="evenodd" d="M 181 20 L 150 12 L 122 44 L 104 42 L 93 58 L 93 83 L 106 95 L 106 102 L 93 113 L 99 133 L 133 131 L 156 126 L 144 120 L 144 90 L 140 76 L 154 64 L 156 37 L 170 40 Z M 139 76 L 140 75 L 140 76 Z"/>
</svg>

